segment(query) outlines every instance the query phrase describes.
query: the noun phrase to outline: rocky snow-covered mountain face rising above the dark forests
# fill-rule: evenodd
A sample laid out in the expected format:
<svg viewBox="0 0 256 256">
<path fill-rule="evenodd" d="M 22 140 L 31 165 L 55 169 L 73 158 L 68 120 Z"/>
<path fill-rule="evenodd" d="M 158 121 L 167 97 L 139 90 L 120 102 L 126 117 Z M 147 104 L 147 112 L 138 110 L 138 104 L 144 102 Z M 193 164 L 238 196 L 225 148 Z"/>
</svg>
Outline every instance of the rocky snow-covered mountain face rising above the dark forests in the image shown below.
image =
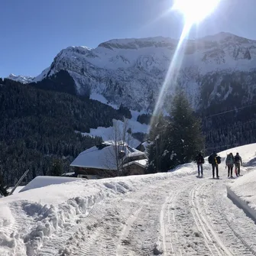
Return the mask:
<svg viewBox="0 0 256 256">
<path fill-rule="evenodd" d="M 112 104 L 123 103 L 134 110 L 153 109 L 177 44 L 172 38 L 151 37 L 111 40 L 95 49 L 67 47 L 34 82 L 67 70 L 80 95 L 93 92 Z M 222 84 L 226 75 L 241 80 L 241 74 L 247 72 L 241 83 L 246 88 L 252 86 L 248 97 L 254 92 L 254 74 L 248 72 L 256 68 L 256 41 L 228 33 L 187 40 L 178 59 L 182 63 L 175 71 L 177 82 L 170 82 L 166 95 L 179 84 L 196 109 L 232 94 L 232 86 Z M 239 79 L 235 77 L 235 81 Z"/>
</svg>

